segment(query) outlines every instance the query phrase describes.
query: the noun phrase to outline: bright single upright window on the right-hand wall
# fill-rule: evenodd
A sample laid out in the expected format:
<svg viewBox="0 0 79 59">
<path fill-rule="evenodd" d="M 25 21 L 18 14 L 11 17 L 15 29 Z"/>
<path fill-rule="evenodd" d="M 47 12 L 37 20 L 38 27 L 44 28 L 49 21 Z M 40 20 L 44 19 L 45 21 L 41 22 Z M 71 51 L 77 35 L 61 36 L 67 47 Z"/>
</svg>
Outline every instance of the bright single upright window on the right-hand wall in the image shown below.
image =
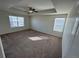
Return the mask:
<svg viewBox="0 0 79 59">
<path fill-rule="evenodd" d="M 54 22 L 54 31 L 63 32 L 65 18 L 56 18 Z"/>
</svg>

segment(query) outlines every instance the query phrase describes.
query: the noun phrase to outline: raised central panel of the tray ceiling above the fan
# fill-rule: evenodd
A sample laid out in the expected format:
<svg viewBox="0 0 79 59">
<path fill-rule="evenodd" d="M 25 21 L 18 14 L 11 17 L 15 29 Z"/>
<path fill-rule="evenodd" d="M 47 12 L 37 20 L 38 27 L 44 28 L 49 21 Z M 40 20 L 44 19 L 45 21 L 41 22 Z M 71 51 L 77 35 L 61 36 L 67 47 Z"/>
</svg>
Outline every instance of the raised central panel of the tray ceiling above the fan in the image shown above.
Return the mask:
<svg viewBox="0 0 79 59">
<path fill-rule="evenodd" d="M 52 9 L 54 5 L 51 0 L 23 0 L 16 4 L 16 6 L 33 7 L 37 10 Z"/>
</svg>

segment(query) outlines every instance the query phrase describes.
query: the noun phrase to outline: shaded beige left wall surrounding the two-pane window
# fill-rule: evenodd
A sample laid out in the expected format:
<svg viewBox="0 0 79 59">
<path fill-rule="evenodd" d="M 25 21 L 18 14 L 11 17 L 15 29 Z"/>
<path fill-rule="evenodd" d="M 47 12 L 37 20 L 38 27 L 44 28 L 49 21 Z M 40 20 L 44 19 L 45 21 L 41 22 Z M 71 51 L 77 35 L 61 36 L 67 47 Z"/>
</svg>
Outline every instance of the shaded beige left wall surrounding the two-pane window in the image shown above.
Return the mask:
<svg viewBox="0 0 79 59">
<path fill-rule="evenodd" d="M 0 34 L 15 32 L 15 31 L 24 30 L 24 29 L 29 29 L 29 17 L 28 16 L 17 14 L 16 16 L 23 16 L 25 18 L 24 19 L 25 26 L 20 27 L 20 28 L 10 28 L 9 17 L 8 17 L 9 15 L 15 16 L 16 14 L 8 13 L 5 11 L 0 11 Z"/>
</svg>

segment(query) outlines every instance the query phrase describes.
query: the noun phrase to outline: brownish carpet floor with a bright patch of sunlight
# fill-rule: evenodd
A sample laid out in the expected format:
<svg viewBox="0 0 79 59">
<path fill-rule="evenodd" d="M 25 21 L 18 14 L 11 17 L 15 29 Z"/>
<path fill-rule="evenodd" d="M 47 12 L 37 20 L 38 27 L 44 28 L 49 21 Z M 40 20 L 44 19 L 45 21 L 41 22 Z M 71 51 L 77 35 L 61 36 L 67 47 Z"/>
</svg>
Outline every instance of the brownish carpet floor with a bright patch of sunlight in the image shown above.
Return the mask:
<svg viewBox="0 0 79 59">
<path fill-rule="evenodd" d="M 23 30 L 1 36 L 8 58 L 59 58 L 62 40 L 33 30 Z"/>
</svg>

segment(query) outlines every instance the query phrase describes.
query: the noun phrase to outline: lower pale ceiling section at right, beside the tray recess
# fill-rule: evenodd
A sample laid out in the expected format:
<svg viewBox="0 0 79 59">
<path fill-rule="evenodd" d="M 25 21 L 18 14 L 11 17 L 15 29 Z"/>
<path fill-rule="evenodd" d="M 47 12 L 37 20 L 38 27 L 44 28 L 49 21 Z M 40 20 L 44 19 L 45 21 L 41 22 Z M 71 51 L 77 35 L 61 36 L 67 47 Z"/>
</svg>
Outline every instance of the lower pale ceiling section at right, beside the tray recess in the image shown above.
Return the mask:
<svg viewBox="0 0 79 59">
<path fill-rule="evenodd" d="M 52 0 L 58 13 L 69 13 L 78 0 Z"/>
</svg>

